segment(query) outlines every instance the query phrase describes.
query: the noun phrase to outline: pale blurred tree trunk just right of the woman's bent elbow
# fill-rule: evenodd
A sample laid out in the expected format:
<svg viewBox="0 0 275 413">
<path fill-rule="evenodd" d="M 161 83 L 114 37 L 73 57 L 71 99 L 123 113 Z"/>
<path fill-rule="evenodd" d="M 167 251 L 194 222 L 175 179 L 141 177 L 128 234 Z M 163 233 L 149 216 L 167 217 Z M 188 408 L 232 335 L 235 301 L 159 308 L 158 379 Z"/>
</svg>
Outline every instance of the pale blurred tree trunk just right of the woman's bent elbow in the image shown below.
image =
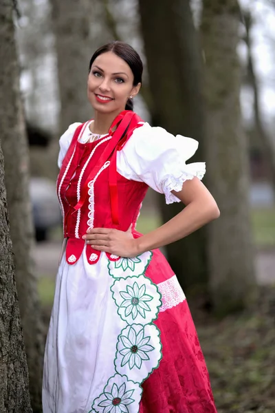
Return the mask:
<svg viewBox="0 0 275 413">
<path fill-rule="evenodd" d="M 239 5 L 204 0 L 208 187 L 221 217 L 208 227 L 210 286 L 217 313 L 243 308 L 255 283 L 248 205 L 248 148 L 241 125 Z"/>
</svg>

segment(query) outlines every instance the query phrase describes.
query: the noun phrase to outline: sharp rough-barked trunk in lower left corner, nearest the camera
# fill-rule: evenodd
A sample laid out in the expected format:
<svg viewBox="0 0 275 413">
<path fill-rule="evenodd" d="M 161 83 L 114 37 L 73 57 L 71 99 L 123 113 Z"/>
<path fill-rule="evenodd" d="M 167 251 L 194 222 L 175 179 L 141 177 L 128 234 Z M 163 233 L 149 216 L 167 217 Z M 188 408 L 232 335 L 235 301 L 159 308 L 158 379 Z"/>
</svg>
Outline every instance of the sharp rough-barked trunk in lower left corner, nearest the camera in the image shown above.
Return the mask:
<svg viewBox="0 0 275 413">
<path fill-rule="evenodd" d="M 5 8 L 8 9 L 8 0 Z M 7 16 L 0 7 L 0 21 Z M 3 34 L 1 24 L 0 34 Z M 1 36 L 2 38 L 2 36 Z M 1 45 L 0 45 L 1 47 Z M 1 83 L 1 78 L 0 78 Z M 28 366 L 17 301 L 0 147 L 0 412 L 31 413 Z"/>
</svg>

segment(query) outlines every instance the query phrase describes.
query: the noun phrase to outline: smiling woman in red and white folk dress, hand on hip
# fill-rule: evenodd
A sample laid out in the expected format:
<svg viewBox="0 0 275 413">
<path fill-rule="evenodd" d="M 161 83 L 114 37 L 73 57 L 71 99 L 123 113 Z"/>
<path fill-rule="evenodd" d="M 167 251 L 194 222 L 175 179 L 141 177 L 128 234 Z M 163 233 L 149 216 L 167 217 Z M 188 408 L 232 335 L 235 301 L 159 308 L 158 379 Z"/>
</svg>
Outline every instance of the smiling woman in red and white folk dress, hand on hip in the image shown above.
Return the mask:
<svg viewBox="0 0 275 413">
<path fill-rule="evenodd" d="M 43 412 L 217 412 L 186 297 L 155 249 L 219 216 L 200 181 L 204 163 L 186 165 L 198 143 L 131 111 L 142 83 L 131 46 L 100 47 L 89 69 L 94 120 L 74 123 L 60 140 L 67 245 L 47 336 Z M 141 235 L 135 223 L 148 187 L 186 208 Z"/>
</svg>

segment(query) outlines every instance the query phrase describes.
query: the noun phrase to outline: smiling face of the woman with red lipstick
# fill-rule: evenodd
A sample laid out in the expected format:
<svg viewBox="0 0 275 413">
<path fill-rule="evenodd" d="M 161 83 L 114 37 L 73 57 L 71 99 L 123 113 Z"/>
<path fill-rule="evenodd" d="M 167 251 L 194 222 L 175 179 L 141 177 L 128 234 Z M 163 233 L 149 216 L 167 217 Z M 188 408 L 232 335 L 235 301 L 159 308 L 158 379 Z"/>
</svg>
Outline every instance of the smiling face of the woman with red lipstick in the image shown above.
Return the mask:
<svg viewBox="0 0 275 413">
<path fill-rule="evenodd" d="M 95 111 L 111 114 L 125 109 L 127 99 L 140 90 L 133 86 L 129 65 L 112 52 L 100 54 L 91 66 L 87 94 Z"/>
</svg>

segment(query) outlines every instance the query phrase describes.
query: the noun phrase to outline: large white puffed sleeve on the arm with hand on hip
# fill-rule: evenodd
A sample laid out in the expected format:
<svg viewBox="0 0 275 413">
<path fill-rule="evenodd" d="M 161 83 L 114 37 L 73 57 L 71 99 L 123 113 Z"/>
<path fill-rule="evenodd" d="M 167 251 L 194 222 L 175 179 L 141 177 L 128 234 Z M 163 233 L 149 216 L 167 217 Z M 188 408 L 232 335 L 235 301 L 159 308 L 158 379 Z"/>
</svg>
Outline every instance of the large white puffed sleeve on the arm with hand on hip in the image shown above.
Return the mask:
<svg viewBox="0 0 275 413">
<path fill-rule="evenodd" d="M 186 180 L 206 172 L 205 162 L 186 164 L 197 151 L 199 143 L 192 138 L 169 134 L 162 127 L 144 123 L 118 152 L 118 172 L 129 180 L 145 182 L 164 193 L 166 204 L 179 202 L 171 191 L 181 191 Z"/>
</svg>

